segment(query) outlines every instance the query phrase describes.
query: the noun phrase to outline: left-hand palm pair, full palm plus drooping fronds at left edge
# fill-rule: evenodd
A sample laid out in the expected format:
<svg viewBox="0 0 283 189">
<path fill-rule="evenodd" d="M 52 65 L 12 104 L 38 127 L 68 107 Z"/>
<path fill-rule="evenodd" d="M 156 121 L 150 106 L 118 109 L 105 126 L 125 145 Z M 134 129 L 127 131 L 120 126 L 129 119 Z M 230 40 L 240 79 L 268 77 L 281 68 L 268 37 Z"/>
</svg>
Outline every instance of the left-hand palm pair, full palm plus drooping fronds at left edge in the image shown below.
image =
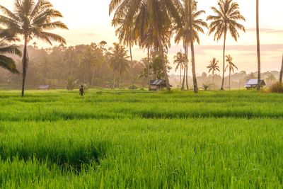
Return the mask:
<svg viewBox="0 0 283 189">
<path fill-rule="evenodd" d="M 15 42 L 19 40 L 19 36 L 23 37 L 23 80 L 22 93 L 25 91 L 25 77 L 28 68 L 28 43 L 37 38 L 52 45 L 52 41 L 66 44 L 66 40 L 61 36 L 47 32 L 55 28 L 68 29 L 67 25 L 61 21 L 53 21 L 54 18 L 62 18 L 62 14 L 55 10 L 52 4 L 46 0 L 16 0 L 14 3 L 14 11 L 8 10 L 4 6 L 0 6 L 0 10 L 4 15 L 0 15 L 0 25 L 5 29 L 1 29 L 1 51 L 0 53 L 9 52 L 21 56 L 22 53 L 15 45 L 8 46 L 6 42 Z M 15 62 L 4 56 L 0 57 L 1 67 L 19 73 L 16 70 Z"/>
</svg>

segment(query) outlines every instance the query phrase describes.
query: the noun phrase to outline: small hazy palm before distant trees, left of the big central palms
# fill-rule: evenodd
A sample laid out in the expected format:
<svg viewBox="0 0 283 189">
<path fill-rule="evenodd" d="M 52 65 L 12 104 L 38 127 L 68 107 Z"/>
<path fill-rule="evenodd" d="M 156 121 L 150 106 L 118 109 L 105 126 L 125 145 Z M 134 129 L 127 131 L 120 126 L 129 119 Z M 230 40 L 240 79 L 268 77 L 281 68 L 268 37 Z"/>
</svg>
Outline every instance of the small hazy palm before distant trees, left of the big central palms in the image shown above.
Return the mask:
<svg viewBox="0 0 283 189">
<path fill-rule="evenodd" d="M 110 66 L 114 71 L 118 72 L 118 86 L 120 88 L 121 74 L 129 69 L 129 56 L 124 46 L 114 42 L 113 47 L 110 47 Z"/>
</svg>

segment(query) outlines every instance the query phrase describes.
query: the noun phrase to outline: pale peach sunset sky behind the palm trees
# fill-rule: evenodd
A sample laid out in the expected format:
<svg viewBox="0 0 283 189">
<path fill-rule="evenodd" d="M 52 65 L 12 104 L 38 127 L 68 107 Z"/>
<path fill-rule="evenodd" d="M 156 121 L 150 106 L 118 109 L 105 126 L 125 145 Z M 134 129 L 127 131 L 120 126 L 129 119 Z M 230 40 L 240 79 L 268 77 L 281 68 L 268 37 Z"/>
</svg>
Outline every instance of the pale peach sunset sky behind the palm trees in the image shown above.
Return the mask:
<svg viewBox="0 0 283 189">
<path fill-rule="evenodd" d="M 246 18 L 242 23 L 246 27 L 246 33 L 240 32 L 238 42 L 228 36 L 226 53 L 233 57 L 238 71 L 247 72 L 257 70 L 256 33 L 255 33 L 255 0 L 235 0 L 240 5 L 240 11 Z M 69 27 L 69 30 L 54 30 L 67 40 L 67 45 L 90 44 L 105 40 L 108 45 L 117 42 L 115 28 L 111 26 L 111 16 L 108 14 L 110 0 L 50 0 L 54 8 L 61 11 L 64 18 L 61 19 Z M 13 10 L 12 0 L 0 0 L 2 6 Z M 199 10 L 206 11 L 202 16 L 211 15 L 211 6 L 216 6 L 217 0 L 199 0 Z M 262 71 L 279 71 L 283 53 L 283 23 L 282 23 L 282 0 L 260 0 L 260 42 L 262 55 Z M 209 61 L 216 57 L 222 62 L 223 41 L 214 41 L 213 35 L 208 36 L 207 30 L 200 35 L 200 45 L 195 44 L 195 59 L 197 74 L 207 72 Z M 43 42 L 37 41 L 40 47 L 50 47 Z M 56 43 L 54 45 L 57 45 Z M 173 57 L 180 52 L 182 45 L 172 43 L 168 52 L 168 59 L 175 73 Z M 134 47 L 134 59 L 146 57 L 144 50 Z M 178 74 L 177 71 L 176 74 Z"/>
</svg>

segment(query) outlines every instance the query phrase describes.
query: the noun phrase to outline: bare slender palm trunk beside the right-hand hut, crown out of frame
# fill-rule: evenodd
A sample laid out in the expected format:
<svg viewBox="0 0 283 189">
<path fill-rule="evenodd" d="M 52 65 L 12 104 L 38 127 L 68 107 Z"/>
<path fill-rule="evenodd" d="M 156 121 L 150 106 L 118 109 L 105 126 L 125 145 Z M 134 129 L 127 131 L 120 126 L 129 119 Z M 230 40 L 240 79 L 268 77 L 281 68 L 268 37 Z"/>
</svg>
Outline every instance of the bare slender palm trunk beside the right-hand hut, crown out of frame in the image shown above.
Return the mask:
<svg viewBox="0 0 283 189">
<path fill-rule="evenodd" d="M 258 52 L 258 87 L 260 90 L 260 18 L 259 18 L 259 0 L 256 0 L 256 30 L 257 30 L 257 52 Z"/>
</svg>

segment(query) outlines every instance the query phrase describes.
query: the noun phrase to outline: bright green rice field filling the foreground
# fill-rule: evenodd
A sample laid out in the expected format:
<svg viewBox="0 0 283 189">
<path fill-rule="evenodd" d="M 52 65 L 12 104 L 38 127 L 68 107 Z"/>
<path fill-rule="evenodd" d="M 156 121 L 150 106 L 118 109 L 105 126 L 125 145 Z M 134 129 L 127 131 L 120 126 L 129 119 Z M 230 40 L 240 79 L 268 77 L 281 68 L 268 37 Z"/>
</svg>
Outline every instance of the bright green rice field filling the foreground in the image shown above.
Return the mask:
<svg viewBox="0 0 283 189">
<path fill-rule="evenodd" d="M 0 91 L 0 188 L 282 188 L 283 96 Z"/>
</svg>

